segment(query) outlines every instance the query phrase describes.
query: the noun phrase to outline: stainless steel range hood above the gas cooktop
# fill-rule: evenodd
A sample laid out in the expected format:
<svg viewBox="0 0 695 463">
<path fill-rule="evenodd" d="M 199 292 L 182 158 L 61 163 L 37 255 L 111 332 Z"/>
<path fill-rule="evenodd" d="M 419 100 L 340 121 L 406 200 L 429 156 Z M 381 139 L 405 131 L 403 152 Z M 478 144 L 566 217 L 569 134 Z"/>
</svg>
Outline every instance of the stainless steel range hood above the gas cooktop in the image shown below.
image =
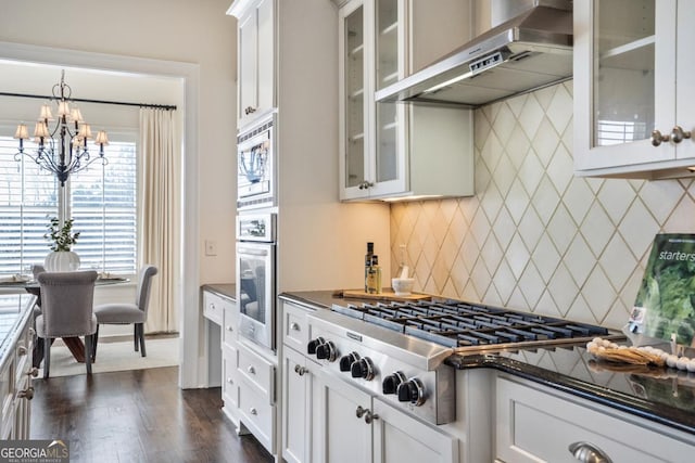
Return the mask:
<svg viewBox="0 0 695 463">
<path fill-rule="evenodd" d="M 571 78 L 571 1 L 533 0 L 511 20 L 378 91 L 376 100 L 477 107 Z"/>
</svg>

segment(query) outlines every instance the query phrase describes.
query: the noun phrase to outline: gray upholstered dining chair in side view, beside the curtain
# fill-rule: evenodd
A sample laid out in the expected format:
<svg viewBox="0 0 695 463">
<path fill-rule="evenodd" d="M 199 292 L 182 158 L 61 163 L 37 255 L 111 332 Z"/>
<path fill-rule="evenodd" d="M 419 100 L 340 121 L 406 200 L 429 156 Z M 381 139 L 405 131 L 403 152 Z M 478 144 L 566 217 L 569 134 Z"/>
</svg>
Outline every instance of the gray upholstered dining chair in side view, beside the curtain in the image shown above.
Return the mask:
<svg viewBox="0 0 695 463">
<path fill-rule="evenodd" d="M 152 265 L 144 265 L 138 275 L 138 290 L 136 291 L 135 304 L 112 303 L 102 304 L 94 307 L 97 316 L 97 336 L 99 339 L 99 325 L 101 324 L 134 324 L 135 350 L 140 349 L 142 357 L 144 351 L 144 322 L 148 319 L 148 306 L 150 305 L 150 287 L 152 276 L 157 273 L 157 269 Z M 97 343 L 94 343 L 93 359 L 97 358 Z"/>
</svg>

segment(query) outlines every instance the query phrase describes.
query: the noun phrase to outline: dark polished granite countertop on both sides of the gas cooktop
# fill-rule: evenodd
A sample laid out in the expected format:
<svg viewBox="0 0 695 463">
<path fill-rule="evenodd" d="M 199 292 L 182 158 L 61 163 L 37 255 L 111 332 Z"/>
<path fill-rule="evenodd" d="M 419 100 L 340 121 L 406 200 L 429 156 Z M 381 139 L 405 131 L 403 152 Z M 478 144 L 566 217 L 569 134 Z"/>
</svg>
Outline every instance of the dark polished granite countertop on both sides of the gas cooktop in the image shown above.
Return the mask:
<svg viewBox="0 0 695 463">
<path fill-rule="evenodd" d="M 348 300 L 328 291 L 291 292 L 280 297 L 315 309 Z M 695 373 L 596 361 L 584 345 L 453 355 L 446 363 L 462 370 L 500 370 L 695 435 Z"/>
</svg>

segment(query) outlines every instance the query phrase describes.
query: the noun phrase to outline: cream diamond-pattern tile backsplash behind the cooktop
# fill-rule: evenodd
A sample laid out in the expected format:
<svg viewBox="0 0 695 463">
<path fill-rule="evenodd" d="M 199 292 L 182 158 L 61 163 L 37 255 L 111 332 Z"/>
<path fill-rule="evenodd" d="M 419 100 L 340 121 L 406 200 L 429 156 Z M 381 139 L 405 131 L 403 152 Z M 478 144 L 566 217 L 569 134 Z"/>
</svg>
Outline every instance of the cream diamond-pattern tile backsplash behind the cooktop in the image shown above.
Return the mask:
<svg viewBox="0 0 695 463">
<path fill-rule="evenodd" d="M 475 196 L 391 205 L 391 268 L 405 244 L 416 291 L 623 326 L 693 180 L 574 177 L 571 81 L 476 110 L 475 144 Z"/>
</svg>

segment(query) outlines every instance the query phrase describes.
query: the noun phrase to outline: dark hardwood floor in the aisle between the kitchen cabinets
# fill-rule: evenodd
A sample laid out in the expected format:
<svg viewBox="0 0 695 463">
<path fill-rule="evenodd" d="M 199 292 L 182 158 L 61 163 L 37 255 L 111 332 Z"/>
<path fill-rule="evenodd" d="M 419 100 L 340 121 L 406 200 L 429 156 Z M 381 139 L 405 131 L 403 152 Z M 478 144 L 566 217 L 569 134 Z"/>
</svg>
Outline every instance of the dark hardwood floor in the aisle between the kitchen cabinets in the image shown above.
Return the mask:
<svg viewBox="0 0 695 463">
<path fill-rule="evenodd" d="M 223 415 L 219 388 L 179 389 L 178 368 L 34 381 L 31 439 L 70 440 L 71 462 L 271 462 Z"/>
</svg>

